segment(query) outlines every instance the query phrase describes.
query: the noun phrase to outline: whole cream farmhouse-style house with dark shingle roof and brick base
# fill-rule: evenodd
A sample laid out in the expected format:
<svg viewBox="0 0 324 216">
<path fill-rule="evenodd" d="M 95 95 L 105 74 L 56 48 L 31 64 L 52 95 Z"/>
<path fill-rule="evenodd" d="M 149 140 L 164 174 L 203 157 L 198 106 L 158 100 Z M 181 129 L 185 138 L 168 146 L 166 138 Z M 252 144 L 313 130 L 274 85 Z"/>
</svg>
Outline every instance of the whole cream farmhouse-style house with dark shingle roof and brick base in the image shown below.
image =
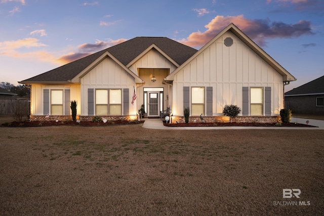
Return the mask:
<svg viewBox="0 0 324 216">
<path fill-rule="evenodd" d="M 284 86 L 296 79 L 234 24 L 199 50 L 168 38 L 138 37 L 19 83 L 31 87 L 30 120 L 137 119 L 170 107 L 173 123 L 226 121 L 226 104 L 242 109 L 245 121 L 277 121 Z M 136 99 L 133 97 L 136 94 Z M 228 119 L 227 119 L 228 121 Z"/>
</svg>

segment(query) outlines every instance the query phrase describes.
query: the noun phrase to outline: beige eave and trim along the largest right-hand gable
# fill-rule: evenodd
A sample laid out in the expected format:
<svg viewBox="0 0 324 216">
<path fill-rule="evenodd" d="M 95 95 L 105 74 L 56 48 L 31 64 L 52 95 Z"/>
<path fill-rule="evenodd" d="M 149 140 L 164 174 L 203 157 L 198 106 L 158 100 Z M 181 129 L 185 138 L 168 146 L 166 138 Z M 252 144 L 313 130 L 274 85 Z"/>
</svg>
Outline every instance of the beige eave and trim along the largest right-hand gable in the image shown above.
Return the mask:
<svg viewBox="0 0 324 216">
<path fill-rule="evenodd" d="M 173 81 L 174 75 L 177 74 L 185 65 L 196 58 L 200 53 L 204 52 L 211 44 L 215 43 L 226 31 L 231 31 L 236 35 L 243 43 L 245 43 L 249 48 L 251 48 L 257 55 L 259 55 L 264 61 L 266 61 L 271 67 L 273 67 L 282 77 L 283 81 L 296 81 L 297 79 L 291 75 L 284 67 L 282 67 L 278 62 L 276 62 L 271 56 L 269 56 L 264 50 L 262 50 L 256 43 L 254 43 L 245 33 L 243 33 L 238 27 L 233 23 L 229 24 L 221 32 L 219 32 L 210 42 L 208 42 L 204 47 L 202 47 L 198 52 L 191 56 L 185 63 L 174 70 L 165 81 Z"/>
</svg>

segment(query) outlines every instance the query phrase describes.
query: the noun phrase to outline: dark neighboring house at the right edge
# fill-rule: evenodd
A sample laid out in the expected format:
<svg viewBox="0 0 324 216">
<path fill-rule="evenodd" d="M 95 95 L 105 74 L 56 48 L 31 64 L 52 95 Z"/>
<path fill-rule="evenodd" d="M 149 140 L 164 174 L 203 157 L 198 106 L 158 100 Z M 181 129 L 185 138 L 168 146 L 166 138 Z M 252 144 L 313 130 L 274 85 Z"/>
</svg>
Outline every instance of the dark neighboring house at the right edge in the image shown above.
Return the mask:
<svg viewBox="0 0 324 216">
<path fill-rule="evenodd" d="M 286 92 L 285 103 L 293 114 L 324 115 L 324 76 Z"/>
</svg>

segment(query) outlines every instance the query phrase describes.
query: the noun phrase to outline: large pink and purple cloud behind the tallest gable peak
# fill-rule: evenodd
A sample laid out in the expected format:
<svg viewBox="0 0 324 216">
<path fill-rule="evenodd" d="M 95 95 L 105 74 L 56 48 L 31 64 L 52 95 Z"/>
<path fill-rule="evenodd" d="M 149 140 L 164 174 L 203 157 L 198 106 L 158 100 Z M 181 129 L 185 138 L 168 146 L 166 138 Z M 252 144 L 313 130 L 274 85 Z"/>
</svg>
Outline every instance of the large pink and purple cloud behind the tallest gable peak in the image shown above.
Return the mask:
<svg viewBox="0 0 324 216">
<path fill-rule="evenodd" d="M 206 31 L 193 32 L 187 39 L 181 40 L 180 43 L 191 47 L 204 46 L 230 23 L 234 23 L 259 46 L 265 46 L 266 40 L 270 38 L 292 38 L 299 37 L 302 34 L 313 34 L 310 22 L 305 20 L 295 24 L 287 24 L 283 22 L 270 23 L 269 20 L 249 20 L 244 18 L 243 15 L 236 17 L 216 16 L 210 23 L 205 25 Z"/>
</svg>

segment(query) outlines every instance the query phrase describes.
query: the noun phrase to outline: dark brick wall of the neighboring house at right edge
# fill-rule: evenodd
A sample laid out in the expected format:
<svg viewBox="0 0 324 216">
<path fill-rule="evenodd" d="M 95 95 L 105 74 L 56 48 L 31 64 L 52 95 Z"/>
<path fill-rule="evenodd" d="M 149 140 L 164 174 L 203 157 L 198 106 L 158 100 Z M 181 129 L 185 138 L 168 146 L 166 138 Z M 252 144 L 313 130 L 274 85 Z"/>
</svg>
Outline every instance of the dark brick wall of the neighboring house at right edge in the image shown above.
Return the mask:
<svg viewBox="0 0 324 216">
<path fill-rule="evenodd" d="M 298 114 L 324 115 L 324 107 L 316 106 L 316 97 L 324 97 L 324 94 L 286 96 L 285 97 L 286 108 L 290 109 L 293 115 L 298 115 Z"/>
</svg>

